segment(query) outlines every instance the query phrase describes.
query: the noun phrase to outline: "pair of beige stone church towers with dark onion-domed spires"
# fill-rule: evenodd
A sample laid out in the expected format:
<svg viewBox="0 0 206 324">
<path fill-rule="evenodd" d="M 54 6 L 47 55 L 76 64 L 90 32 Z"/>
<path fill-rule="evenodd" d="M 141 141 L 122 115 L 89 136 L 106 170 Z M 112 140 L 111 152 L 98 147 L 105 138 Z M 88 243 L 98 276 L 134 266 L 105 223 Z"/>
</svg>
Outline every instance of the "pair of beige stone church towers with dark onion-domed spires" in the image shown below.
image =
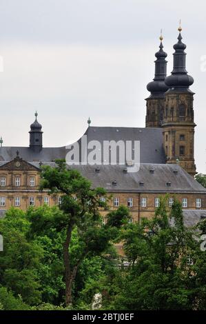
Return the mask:
<svg viewBox="0 0 206 324">
<path fill-rule="evenodd" d="M 178 43 L 173 48 L 172 74 L 167 77 L 167 53 L 156 52 L 154 81 L 147 84 L 151 92 L 147 101 L 146 127 L 163 129 L 163 147 L 167 163 L 179 163 L 189 174 L 196 174 L 194 163 L 194 92 L 189 86 L 194 79 L 185 68 L 186 45 L 182 43 L 181 26 L 178 28 Z"/>
</svg>

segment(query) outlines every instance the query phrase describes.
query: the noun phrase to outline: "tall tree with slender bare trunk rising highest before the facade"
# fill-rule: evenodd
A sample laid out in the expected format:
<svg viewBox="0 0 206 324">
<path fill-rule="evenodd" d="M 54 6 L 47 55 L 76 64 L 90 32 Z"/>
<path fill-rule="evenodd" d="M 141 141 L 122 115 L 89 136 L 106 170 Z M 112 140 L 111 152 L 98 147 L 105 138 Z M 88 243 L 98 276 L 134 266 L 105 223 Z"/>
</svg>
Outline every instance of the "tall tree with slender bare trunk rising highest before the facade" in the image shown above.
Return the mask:
<svg viewBox="0 0 206 324">
<path fill-rule="evenodd" d="M 68 170 L 64 161 L 56 161 L 56 167 L 48 165 L 41 170 L 41 189 L 50 194 L 61 194 L 61 213 L 30 217 L 31 234 L 42 234 L 50 227 L 65 235 L 63 263 L 65 272 L 65 304 L 72 304 L 72 288 L 76 273 L 88 256 L 101 255 L 111 245 L 116 230 L 114 224 L 103 225 L 99 208 L 106 208 L 101 201 L 105 196 L 103 188 L 93 189 L 90 181 L 76 170 Z M 122 218 L 127 215 L 121 213 Z M 76 234 L 77 244 L 72 244 Z"/>
</svg>

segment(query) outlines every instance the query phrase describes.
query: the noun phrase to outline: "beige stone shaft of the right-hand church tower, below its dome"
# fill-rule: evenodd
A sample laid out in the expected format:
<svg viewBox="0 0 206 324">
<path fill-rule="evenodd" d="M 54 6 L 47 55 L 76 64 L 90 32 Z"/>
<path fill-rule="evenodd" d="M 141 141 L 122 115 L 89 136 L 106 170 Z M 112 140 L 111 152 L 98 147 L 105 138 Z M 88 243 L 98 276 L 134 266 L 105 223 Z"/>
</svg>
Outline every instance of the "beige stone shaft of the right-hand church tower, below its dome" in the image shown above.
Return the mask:
<svg viewBox="0 0 206 324">
<path fill-rule="evenodd" d="M 184 118 L 180 115 L 180 107 L 185 107 Z M 189 93 L 166 93 L 165 94 L 165 111 L 163 121 L 163 145 L 167 163 L 180 162 L 189 174 L 196 174 L 194 163 L 194 110 L 193 94 Z M 185 139 L 181 140 L 180 136 L 184 135 Z M 185 148 L 185 154 L 180 154 L 180 147 Z"/>
</svg>

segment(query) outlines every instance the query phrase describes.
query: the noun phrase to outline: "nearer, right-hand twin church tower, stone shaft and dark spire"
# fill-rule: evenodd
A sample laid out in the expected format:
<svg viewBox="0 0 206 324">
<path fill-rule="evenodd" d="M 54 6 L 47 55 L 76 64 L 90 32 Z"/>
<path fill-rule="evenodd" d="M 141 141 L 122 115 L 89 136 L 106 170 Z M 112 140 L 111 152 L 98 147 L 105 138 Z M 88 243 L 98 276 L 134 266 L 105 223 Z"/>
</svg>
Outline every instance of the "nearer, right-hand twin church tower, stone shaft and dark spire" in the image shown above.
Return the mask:
<svg viewBox="0 0 206 324">
<path fill-rule="evenodd" d="M 194 163 L 194 92 L 189 86 L 194 79 L 185 68 L 186 45 L 182 43 L 181 26 L 178 28 L 178 43 L 173 48 L 172 75 L 165 79 L 169 90 L 165 93 L 163 117 L 163 145 L 167 163 L 179 163 L 189 174 L 196 174 Z"/>
</svg>

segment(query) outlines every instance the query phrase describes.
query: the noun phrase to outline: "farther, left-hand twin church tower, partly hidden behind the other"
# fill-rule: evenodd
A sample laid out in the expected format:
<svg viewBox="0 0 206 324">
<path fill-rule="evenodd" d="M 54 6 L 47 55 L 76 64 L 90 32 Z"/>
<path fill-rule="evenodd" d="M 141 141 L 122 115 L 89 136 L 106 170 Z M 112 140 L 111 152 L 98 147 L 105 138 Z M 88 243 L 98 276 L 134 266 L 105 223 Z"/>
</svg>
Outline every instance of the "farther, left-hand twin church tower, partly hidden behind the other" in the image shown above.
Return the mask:
<svg viewBox="0 0 206 324">
<path fill-rule="evenodd" d="M 155 74 L 152 82 L 147 84 L 147 90 L 151 92 L 147 101 L 146 127 L 161 127 L 165 107 L 165 92 L 168 90 L 165 85 L 167 76 L 167 53 L 163 51 L 163 36 L 160 37 L 161 44 L 156 52 Z"/>
</svg>

